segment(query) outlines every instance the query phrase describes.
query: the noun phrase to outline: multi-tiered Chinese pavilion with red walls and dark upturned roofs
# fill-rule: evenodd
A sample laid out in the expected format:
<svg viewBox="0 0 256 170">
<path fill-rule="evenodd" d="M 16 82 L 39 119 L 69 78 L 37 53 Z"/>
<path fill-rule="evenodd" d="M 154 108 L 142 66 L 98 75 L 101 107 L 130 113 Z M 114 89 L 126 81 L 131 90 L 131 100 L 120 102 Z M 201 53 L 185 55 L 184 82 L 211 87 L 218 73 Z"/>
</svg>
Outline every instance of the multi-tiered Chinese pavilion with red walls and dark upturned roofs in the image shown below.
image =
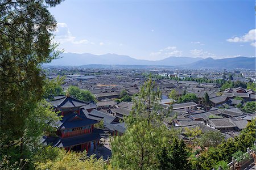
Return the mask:
<svg viewBox="0 0 256 170">
<path fill-rule="evenodd" d="M 69 96 L 57 96 L 48 101 L 56 112 L 60 112 L 62 120 L 55 122 L 55 137 L 44 137 L 43 143 L 53 147 L 64 147 L 65 150 L 84 151 L 96 149 L 103 130 L 95 128 L 101 118 L 88 116 L 88 112 L 96 108 L 93 102 L 85 103 Z"/>
</svg>

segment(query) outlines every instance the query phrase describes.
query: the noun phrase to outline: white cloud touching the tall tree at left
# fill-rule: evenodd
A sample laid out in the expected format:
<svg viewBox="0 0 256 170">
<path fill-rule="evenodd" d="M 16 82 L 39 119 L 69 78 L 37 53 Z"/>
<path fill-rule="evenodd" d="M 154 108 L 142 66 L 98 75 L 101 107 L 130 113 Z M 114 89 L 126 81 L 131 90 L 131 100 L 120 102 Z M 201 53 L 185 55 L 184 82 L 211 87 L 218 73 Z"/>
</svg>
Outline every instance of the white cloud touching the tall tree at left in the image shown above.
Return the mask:
<svg viewBox="0 0 256 170">
<path fill-rule="evenodd" d="M 90 42 L 89 40 L 76 40 L 76 37 L 72 35 L 69 31 L 68 25 L 66 23 L 57 23 L 57 29 L 54 32 L 55 41 L 60 42 L 61 44 L 65 42 L 71 42 L 72 44 L 94 44 L 94 42 Z"/>
</svg>

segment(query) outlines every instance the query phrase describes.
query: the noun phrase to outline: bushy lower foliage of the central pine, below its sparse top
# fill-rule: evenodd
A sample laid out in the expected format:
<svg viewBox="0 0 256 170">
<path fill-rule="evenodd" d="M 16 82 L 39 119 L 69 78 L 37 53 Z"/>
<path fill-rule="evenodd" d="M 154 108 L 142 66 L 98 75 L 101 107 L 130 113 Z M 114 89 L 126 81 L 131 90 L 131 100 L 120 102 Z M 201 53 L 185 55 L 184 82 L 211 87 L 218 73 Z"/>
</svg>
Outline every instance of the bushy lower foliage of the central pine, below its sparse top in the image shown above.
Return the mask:
<svg viewBox="0 0 256 170">
<path fill-rule="evenodd" d="M 154 128 L 145 120 L 128 126 L 125 134 L 114 137 L 111 142 L 113 166 L 117 169 L 156 169 L 156 154 L 162 143 L 167 142 L 163 128 Z"/>
</svg>

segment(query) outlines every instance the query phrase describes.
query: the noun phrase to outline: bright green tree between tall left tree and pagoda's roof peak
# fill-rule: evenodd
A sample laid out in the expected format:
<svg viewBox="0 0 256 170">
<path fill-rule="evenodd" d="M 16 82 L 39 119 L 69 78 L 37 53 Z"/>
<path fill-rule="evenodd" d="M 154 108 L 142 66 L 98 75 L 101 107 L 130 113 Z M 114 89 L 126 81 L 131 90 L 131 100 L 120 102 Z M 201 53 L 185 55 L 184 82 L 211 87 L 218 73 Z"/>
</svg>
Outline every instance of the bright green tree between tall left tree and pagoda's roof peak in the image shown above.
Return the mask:
<svg viewBox="0 0 256 170">
<path fill-rule="evenodd" d="M 46 79 L 46 84 L 44 85 L 44 98 L 53 99 L 54 96 L 63 95 L 63 88 L 61 85 L 64 83 L 65 77 L 57 76 L 56 79 Z"/>
</svg>

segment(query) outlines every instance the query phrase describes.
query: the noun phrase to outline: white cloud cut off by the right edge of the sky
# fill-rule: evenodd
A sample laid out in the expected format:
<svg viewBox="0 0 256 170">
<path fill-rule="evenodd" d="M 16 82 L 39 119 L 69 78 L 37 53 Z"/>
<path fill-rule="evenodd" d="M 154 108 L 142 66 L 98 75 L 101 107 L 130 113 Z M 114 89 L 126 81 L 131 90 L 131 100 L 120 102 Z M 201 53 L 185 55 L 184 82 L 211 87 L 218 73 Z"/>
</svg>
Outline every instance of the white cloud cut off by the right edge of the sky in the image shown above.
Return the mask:
<svg viewBox="0 0 256 170">
<path fill-rule="evenodd" d="M 248 33 L 246 33 L 243 36 L 234 36 L 230 39 L 227 39 L 226 41 L 228 42 L 251 42 L 251 46 L 255 46 L 255 33 L 256 33 L 256 29 L 251 29 Z"/>
</svg>

